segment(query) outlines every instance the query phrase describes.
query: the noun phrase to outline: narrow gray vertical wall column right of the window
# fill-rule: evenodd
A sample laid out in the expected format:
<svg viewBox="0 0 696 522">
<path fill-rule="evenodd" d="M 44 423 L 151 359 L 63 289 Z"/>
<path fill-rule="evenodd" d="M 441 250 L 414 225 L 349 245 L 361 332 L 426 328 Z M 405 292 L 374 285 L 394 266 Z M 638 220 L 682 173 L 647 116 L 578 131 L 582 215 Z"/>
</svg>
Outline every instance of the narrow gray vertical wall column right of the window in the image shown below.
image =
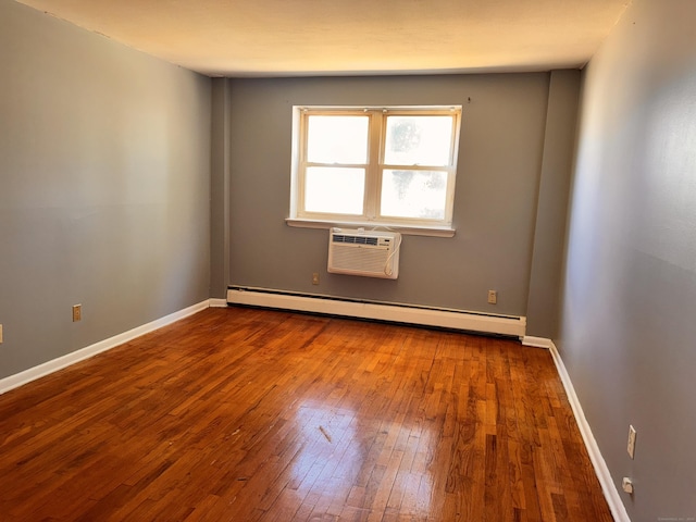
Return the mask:
<svg viewBox="0 0 696 522">
<path fill-rule="evenodd" d="M 577 120 L 580 71 L 552 71 L 539 179 L 526 333 L 558 335 L 563 245 Z"/>
</svg>

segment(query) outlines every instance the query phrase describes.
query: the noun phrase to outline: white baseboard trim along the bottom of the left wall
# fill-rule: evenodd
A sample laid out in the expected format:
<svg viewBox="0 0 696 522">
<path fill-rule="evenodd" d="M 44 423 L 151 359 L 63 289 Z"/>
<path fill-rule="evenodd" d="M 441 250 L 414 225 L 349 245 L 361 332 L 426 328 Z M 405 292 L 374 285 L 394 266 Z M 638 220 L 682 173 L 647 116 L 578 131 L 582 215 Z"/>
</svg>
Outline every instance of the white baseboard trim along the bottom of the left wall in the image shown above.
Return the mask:
<svg viewBox="0 0 696 522">
<path fill-rule="evenodd" d="M 14 375 L 10 375 L 9 377 L 4 377 L 0 380 L 0 395 L 10 391 L 11 389 L 23 386 L 32 381 L 36 381 L 37 378 L 44 377 L 50 373 L 57 372 L 64 368 L 70 366 L 71 364 L 75 364 L 76 362 L 84 361 L 85 359 L 89 359 L 90 357 L 96 356 L 97 353 L 101 353 L 102 351 L 110 350 L 111 348 L 115 348 L 116 346 L 123 345 L 124 343 L 128 343 L 129 340 L 135 339 L 136 337 L 140 337 L 141 335 L 148 334 L 150 332 L 154 332 L 162 326 L 166 326 L 167 324 L 175 323 L 176 321 L 181 321 L 184 318 L 192 315 L 194 313 L 200 312 L 209 308 L 210 300 L 201 301 L 191 307 L 185 308 L 184 310 L 179 310 L 178 312 L 171 313 L 165 315 L 164 318 L 154 320 L 150 323 L 144 324 L 136 328 L 129 330 L 128 332 L 124 332 L 123 334 L 115 335 L 104 340 L 100 340 L 99 343 L 95 343 L 94 345 L 87 346 L 85 348 L 80 348 L 71 353 L 66 353 L 62 357 L 53 359 L 51 361 L 47 361 L 38 366 L 29 368 L 20 373 L 15 373 Z"/>
</svg>

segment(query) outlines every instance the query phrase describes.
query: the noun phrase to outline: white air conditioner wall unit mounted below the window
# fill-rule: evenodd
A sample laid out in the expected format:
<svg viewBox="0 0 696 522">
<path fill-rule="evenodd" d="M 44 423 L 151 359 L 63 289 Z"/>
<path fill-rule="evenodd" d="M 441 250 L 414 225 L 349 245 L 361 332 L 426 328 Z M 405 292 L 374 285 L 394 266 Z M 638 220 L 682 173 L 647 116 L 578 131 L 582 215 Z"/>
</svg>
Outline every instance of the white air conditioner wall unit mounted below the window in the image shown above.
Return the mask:
<svg viewBox="0 0 696 522">
<path fill-rule="evenodd" d="M 331 228 L 328 272 L 396 279 L 399 276 L 401 234 Z"/>
</svg>

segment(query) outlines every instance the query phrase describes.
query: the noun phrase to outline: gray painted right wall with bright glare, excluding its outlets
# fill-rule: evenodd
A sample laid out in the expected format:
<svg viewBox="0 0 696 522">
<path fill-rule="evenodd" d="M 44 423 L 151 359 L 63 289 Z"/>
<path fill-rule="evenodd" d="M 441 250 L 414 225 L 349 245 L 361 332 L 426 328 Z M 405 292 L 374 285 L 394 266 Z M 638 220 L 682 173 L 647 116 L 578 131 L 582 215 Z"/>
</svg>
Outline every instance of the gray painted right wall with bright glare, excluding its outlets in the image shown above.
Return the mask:
<svg viewBox="0 0 696 522">
<path fill-rule="evenodd" d="M 694 20 L 635 0 L 581 97 L 557 344 L 634 522 L 696 518 Z"/>
</svg>

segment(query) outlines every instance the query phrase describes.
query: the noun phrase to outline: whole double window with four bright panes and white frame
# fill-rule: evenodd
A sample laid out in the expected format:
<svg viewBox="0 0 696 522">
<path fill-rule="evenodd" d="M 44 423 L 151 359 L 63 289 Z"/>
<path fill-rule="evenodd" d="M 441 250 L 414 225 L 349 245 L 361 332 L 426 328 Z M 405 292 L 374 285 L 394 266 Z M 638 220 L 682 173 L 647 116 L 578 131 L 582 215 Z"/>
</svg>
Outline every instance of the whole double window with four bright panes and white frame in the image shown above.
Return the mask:
<svg viewBox="0 0 696 522">
<path fill-rule="evenodd" d="M 451 227 L 461 107 L 295 110 L 289 221 Z"/>
</svg>

